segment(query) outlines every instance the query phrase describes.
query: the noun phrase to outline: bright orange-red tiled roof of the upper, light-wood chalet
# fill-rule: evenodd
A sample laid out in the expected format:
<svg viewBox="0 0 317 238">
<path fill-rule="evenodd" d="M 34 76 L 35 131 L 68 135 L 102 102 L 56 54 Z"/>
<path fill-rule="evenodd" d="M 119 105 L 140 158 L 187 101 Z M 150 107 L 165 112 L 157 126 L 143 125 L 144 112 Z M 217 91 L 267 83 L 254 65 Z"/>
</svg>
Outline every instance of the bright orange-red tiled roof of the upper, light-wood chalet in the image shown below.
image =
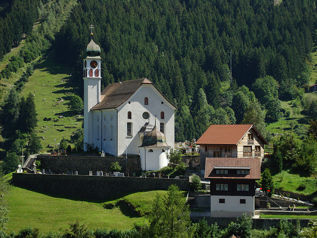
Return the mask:
<svg viewBox="0 0 317 238">
<path fill-rule="evenodd" d="M 252 124 L 210 125 L 204 134 L 197 140 L 196 144 L 236 145 L 252 127 L 258 132 L 256 127 Z M 258 134 L 264 141 L 264 144 L 268 144 L 260 132 L 258 132 Z"/>
</svg>

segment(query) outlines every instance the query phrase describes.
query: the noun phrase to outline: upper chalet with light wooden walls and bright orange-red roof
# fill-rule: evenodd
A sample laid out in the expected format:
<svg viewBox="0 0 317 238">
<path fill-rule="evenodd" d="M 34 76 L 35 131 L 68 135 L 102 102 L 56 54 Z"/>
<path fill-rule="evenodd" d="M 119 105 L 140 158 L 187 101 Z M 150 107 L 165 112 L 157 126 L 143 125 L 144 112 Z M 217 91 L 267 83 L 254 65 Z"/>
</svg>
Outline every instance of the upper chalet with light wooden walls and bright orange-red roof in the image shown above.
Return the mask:
<svg viewBox="0 0 317 238">
<path fill-rule="evenodd" d="M 261 161 L 268 142 L 251 124 L 210 125 L 197 140 L 200 145 L 200 169 L 204 174 L 206 158 L 255 157 Z"/>
</svg>

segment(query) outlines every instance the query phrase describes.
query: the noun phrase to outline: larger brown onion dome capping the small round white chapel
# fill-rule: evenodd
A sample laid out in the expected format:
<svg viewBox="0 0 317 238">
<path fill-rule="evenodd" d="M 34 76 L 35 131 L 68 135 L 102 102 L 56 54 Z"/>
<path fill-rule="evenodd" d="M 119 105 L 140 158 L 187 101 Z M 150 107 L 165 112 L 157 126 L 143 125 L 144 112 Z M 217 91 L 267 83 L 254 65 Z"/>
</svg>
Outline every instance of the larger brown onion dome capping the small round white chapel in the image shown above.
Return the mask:
<svg viewBox="0 0 317 238">
<path fill-rule="evenodd" d="M 143 143 L 139 147 L 170 147 L 170 146 L 166 143 L 166 136 L 164 135 L 164 133 L 160 132 L 157 129 L 156 123 L 155 123 L 153 129 L 143 137 Z"/>
</svg>

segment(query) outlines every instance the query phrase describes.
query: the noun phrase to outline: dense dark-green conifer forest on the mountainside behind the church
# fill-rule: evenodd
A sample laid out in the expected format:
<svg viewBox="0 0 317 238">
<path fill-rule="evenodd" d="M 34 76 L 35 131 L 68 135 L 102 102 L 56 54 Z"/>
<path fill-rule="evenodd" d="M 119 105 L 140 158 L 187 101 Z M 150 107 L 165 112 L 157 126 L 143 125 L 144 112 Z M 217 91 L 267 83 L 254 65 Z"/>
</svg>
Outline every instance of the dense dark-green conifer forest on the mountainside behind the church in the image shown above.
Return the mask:
<svg viewBox="0 0 317 238">
<path fill-rule="evenodd" d="M 82 84 L 92 23 L 102 48 L 102 86 L 150 79 L 178 107 L 176 141 L 198 138 L 209 123 L 253 122 L 246 114 L 263 117 L 264 109 L 266 120 L 274 121 L 281 108 L 277 97 L 301 97 L 307 88 L 314 0 L 78 2 L 55 38 L 57 59 L 73 65 Z M 257 126 L 265 132 L 263 120 Z"/>
</svg>

